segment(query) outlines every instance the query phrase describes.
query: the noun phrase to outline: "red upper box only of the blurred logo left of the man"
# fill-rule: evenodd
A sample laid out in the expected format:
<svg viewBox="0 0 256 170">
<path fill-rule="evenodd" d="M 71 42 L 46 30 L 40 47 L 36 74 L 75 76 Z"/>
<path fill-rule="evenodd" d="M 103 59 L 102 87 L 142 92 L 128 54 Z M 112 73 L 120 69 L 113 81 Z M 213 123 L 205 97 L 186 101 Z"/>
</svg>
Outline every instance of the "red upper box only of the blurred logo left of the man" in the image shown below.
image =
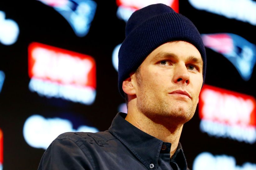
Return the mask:
<svg viewBox="0 0 256 170">
<path fill-rule="evenodd" d="M 29 45 L 28 74 L 30 78 L 96 88 L 96 64 L 92 57 L 45 44 Z"/>
</svg>

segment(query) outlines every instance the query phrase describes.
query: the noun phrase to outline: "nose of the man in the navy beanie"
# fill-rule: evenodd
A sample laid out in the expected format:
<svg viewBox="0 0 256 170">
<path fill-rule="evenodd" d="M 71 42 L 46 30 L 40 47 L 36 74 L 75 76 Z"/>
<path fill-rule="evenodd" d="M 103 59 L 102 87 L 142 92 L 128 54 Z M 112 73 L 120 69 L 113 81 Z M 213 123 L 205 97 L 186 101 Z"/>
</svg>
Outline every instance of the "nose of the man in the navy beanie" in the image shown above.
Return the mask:
<svg viewBox="0 0 256 170">
<path fill-rule="evenodd" d="M 177 64 L 174 69 L 174 76 L 173 76 L 174 82 L 177 84 L 189 84 L 189 72 L 187 70 L 186 65 L 183 64 Z"/>
</svg>

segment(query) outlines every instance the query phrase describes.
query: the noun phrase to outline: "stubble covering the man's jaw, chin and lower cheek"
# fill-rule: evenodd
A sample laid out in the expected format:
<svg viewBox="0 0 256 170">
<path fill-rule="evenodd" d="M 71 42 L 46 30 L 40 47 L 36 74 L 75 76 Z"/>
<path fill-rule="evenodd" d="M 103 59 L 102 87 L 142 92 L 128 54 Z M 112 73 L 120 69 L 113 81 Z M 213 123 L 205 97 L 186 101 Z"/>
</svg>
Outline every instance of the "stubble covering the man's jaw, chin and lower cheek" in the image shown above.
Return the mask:
<svg viewBox="0 0 256 170">
<path fill-rule="evenodd" d="M 170 96 L 159 96 L 157 91 L 143 81 L 140 67 L 135 72 L 135 77 L 137 80 L 138 91 L 137 95 L 137 108 L 138 110 L 151 119 L 154 122 L 158 123 L 167 123 L 167 124 L 184 124 L 188 122 L 194 115 L 196 111 L 197 103 L 192 102 L 188 107 L 183 107 L 176 102 L 170 102 L 168 97 Z M 186 104 L 185 104 L 186 105 Z"/>
</svg>

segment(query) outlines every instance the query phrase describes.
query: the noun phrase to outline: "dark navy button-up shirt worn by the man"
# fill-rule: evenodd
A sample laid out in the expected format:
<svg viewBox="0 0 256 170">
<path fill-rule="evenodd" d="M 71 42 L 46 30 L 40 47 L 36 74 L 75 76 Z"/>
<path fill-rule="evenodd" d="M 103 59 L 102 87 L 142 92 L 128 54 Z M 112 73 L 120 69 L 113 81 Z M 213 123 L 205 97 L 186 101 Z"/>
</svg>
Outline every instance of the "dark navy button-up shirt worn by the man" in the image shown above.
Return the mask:
<svg viewBox="0 0 256 170">
<path fill-rule="evenodd" d="M 46 149 L 38 170 L 186 170 L 181 145 L 170 159 L 171 144 L 127 122 L 118 113 L 108 131 L 67 132 Z"/>
</svg>

